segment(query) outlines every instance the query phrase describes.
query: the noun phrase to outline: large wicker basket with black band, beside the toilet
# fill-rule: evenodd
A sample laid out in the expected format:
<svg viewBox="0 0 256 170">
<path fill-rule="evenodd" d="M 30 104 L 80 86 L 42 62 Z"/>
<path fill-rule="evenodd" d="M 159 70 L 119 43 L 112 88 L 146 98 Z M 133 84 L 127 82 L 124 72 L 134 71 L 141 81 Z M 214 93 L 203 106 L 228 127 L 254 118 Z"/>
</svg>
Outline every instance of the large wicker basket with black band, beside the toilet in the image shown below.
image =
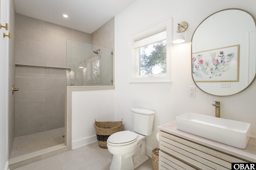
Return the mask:
<svg viewBox="0 0 256 170">
<path fill-rule="evenodd" d="M 94 127 L 97 134 L 98 144 L 101 148 L 107 147 L 107 140 L 111 134 L 115 132 L 119 132 L 122 130 L 123 122 L 96 122 L 94 123 Z"/>
</svg>

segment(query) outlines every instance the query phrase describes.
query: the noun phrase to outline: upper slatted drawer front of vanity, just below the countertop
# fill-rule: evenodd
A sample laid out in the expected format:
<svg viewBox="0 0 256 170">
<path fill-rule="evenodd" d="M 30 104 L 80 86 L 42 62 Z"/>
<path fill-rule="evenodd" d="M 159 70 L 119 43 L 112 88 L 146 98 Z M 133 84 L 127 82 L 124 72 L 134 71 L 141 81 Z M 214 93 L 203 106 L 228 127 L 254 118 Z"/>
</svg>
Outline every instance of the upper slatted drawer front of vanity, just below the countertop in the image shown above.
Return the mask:
<svg viewBox="0 0 256 170">
<path fill-rule="evenodd" d="M 200 169 L 231 169 L 231 162 L 245 162 L 183 138 L 160 132 L 160 149 Z"/>
</svg>

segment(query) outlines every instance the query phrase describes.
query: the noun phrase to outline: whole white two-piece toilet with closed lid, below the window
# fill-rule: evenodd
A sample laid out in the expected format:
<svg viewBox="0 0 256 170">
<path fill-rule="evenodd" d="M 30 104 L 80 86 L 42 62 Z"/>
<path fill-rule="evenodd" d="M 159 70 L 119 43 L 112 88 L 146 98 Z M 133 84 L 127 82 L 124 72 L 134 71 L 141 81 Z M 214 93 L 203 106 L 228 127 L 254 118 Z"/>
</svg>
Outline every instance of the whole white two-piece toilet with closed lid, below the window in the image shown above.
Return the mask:
<svg viewBox="0 0 256 170">
<path fill-rule="evenodd" d="M 132 109 L 132 128 L 108 137 L 108 151 L 113 154 L 110 170 L 134 170 L 148 160 L 145 138 L 152 134 L 154 111 Z"/>
</svg>

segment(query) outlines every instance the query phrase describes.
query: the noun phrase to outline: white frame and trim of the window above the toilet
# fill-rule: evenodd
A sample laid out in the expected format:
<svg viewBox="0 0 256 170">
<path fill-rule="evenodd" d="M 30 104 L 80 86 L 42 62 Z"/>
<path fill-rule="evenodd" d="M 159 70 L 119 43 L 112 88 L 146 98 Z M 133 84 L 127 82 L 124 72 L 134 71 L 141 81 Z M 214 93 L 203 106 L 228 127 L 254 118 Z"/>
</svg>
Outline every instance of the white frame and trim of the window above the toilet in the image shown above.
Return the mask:
<svg viewBox="0 0 256 170">
<path fill-rule="evenodd" d="M 129 37 L 129 83 L 150 83 L 150 82 L 172 82 L 171 81 L 171 18 L 168 18 L 154 26 L 142 30 Z M 166 30 L 166 73 L 152 74 L 152 75 L 139 75 L 140 74 L 140 48 L 138 42 L 140 40 L 148 41 L 152 44 L 147 37 Z M 147 45 L 145 43 L 144 45 Z"/>
</svg>

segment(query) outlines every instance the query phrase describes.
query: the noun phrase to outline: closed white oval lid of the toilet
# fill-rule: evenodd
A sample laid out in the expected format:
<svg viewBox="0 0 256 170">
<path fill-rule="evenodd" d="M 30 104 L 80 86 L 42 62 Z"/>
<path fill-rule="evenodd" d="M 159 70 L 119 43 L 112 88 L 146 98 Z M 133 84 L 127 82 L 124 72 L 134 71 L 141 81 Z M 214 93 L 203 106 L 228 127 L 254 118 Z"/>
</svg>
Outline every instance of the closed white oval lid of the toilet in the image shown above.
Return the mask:
<svg viewBox="0 0 256 170">
<path fill-rule="evenodd" d="M 114 146 L 126 145 L 135 142 L 138 138 L 136 133 L 129 130 L 116 132 L 108 137 L 108 142 Z"/>
</svg>

